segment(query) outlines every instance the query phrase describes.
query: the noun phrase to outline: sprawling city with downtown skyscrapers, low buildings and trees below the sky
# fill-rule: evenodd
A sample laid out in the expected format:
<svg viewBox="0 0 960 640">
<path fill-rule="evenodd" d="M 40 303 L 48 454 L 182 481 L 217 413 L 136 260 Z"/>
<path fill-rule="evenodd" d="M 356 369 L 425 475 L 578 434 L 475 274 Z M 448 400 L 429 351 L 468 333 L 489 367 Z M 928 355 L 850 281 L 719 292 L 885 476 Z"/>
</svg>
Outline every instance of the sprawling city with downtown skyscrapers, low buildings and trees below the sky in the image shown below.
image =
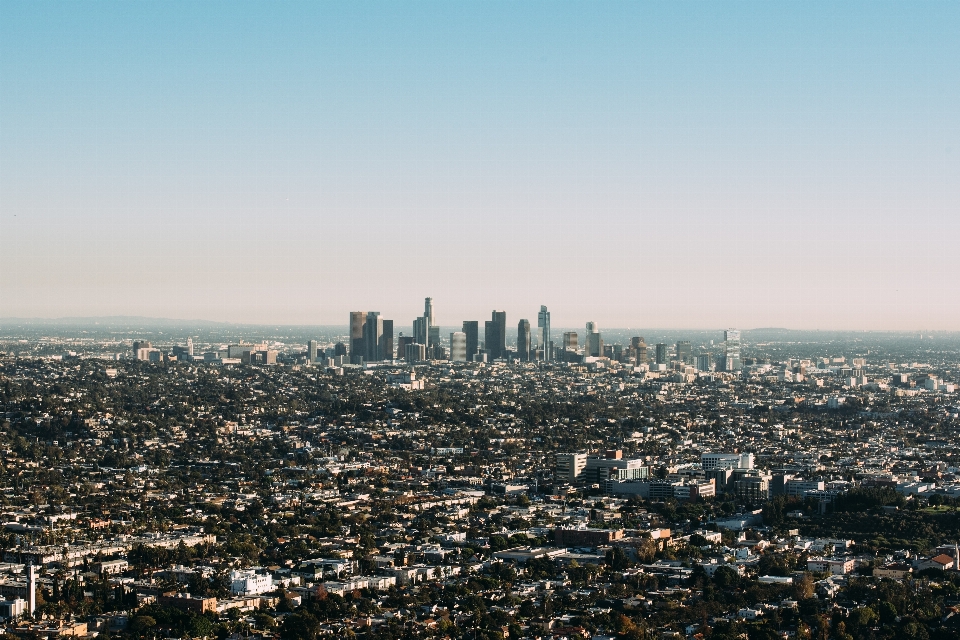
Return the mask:
<svg viewBox="0 0 960 640">
<path fill-rule="evenodd" d="M 960 636 L 960 335 L 446 329 L 0 327 L 2 632 Z"/>
</svg>

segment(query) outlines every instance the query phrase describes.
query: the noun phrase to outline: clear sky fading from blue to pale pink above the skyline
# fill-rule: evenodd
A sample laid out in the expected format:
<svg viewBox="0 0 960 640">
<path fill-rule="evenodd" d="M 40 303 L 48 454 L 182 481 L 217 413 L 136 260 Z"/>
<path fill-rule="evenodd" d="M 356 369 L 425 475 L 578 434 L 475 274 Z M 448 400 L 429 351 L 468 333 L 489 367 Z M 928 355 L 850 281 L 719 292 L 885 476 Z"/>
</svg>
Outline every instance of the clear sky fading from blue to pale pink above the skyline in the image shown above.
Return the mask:
<svg viewBox="0 0 960 640">
<path fill-rule="evenodd" d="M 0 317 L 960 329 L 960 3 L 0 3 Z"/>
</svg>

